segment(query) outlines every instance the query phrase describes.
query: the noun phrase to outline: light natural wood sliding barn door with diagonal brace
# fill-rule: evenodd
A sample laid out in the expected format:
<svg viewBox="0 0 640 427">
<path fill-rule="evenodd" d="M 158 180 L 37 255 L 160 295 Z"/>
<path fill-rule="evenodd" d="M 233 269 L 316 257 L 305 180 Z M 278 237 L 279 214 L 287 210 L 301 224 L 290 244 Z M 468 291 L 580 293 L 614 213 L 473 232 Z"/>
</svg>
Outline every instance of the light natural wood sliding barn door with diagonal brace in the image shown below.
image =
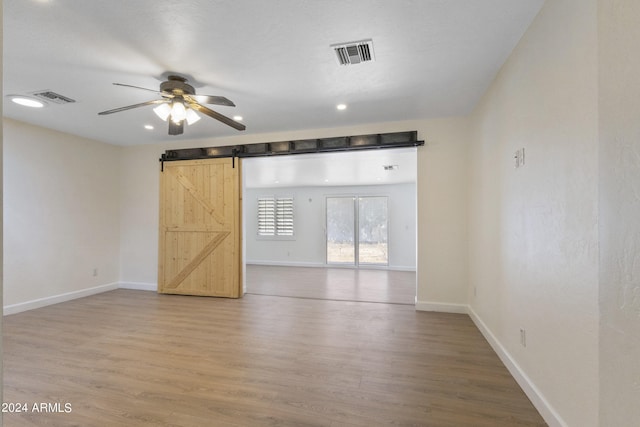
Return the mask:
<svg viewBox="0 0 640 427">
<path fill-rule="evenodd" d="M 158 292 L 242 296 L 240 161 L 233 163 L 164 163 Z"/>
</svg>

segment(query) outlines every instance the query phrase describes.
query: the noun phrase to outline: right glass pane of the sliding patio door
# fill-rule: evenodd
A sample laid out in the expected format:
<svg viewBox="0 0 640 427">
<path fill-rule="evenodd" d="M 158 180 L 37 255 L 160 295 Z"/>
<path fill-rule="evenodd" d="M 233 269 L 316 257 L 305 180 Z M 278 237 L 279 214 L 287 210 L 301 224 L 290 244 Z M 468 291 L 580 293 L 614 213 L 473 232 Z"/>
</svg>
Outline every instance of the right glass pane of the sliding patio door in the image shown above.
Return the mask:
<svg viewBox="0 0 640 427">
<path fill-rule="evenodd" d="M 387 198 L 358 199 L 358 263 L 389 264 Z"/>
</svg>

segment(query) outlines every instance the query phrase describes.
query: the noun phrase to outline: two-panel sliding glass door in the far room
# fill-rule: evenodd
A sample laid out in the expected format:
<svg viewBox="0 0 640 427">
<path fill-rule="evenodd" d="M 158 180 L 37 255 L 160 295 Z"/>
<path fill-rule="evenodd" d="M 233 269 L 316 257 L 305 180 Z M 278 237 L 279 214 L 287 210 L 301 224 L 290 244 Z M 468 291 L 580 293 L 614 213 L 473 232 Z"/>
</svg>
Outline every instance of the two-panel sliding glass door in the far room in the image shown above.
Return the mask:
<svg viewBox="0 0 640 427">
<path fill-rule="evenodd" d="M 388 265 L 386 197 L 327 197 L 326 206 L 327 264 Z"/>
</svg>

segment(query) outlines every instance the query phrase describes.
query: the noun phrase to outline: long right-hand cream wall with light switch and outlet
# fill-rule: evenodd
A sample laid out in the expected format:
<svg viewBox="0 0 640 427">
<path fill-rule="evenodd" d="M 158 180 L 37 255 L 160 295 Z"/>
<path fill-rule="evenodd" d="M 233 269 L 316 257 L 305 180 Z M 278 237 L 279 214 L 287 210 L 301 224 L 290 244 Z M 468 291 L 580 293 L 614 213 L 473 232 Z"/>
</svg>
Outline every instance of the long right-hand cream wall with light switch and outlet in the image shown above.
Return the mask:
<svg viewBox="0 0 640 427">
<path fill-rule="evenodd" d="M 472 115 L 472 314 L 550 425 L 598 424 L 597 37 L 547 1 Z"/>
</svg>

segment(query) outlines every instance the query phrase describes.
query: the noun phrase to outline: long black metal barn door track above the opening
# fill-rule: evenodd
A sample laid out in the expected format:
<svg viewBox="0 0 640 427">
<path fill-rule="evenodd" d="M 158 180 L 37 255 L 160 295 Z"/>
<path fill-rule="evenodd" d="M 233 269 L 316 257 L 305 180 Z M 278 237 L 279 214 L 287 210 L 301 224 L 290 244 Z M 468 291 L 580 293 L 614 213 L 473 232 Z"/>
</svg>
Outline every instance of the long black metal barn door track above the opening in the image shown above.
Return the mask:
<svg viewBox="0 0 640 427">
<path fill-rule="evenodd" d="M 370 135 L 339 136 L 331 138 L 301 139 L 294 141 L 260 142 L 256 144 L 228 145 L 222 147 L 184 148 L 167 150 L 160 162 L 177 160 L 215 159 L 231 157 L 282 156 L 290 154 L 324 153 L 331 151 L 373 150 L 380 148 L 418 147 L 417 131 L 376 133 Z"/>
</svg>

